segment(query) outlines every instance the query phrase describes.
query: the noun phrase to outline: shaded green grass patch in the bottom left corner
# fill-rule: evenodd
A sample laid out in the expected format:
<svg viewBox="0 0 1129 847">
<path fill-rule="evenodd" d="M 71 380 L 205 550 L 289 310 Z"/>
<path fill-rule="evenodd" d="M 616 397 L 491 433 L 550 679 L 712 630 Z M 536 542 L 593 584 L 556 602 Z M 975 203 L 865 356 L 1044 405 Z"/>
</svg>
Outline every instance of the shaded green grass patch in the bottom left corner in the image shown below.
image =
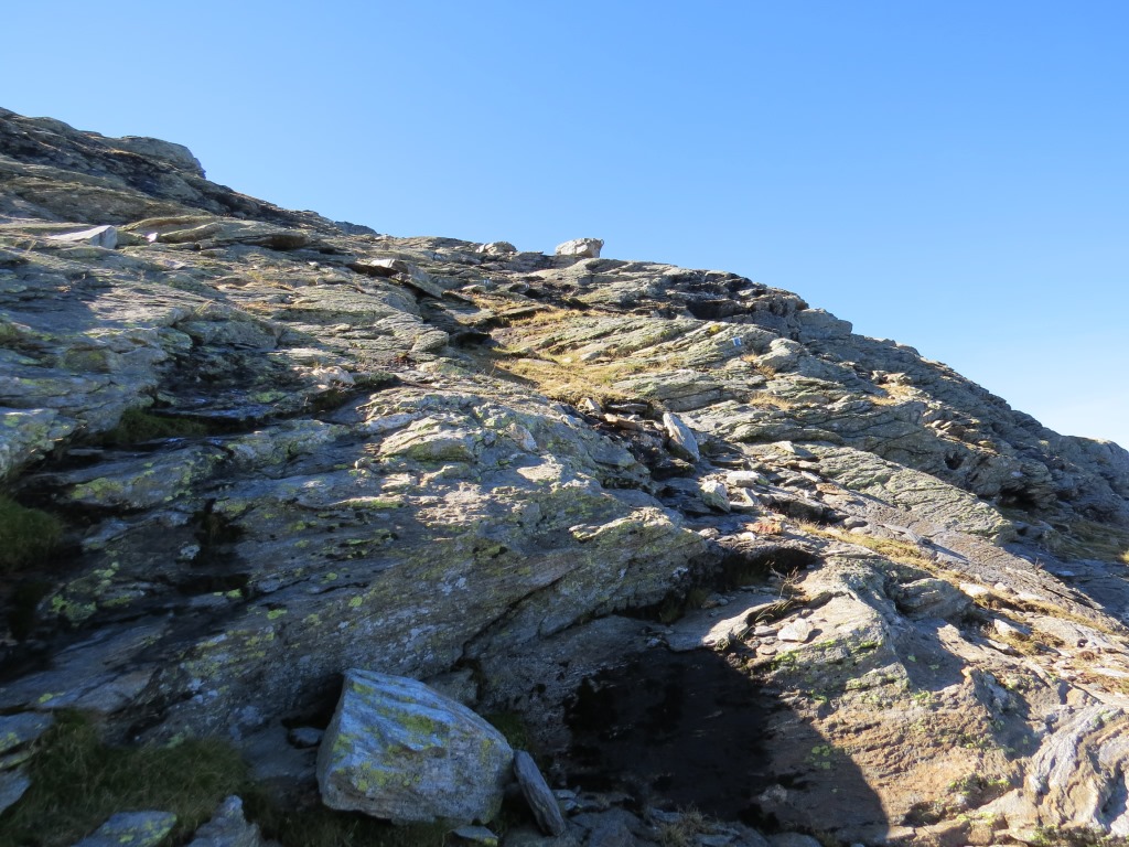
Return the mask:
<svg viewBox="0 0 1129 847">
<path fill-rule="evenodd" d="M 0 847 L 65 847 L 116 812 L 175 812 L 172 837 L 186 836 L 245 785 L 239 754 L 218 740 L 173 746 L 111 746 L 77 713 L 38 742 L 32 786 L 0 818 Z"/>
</svg>

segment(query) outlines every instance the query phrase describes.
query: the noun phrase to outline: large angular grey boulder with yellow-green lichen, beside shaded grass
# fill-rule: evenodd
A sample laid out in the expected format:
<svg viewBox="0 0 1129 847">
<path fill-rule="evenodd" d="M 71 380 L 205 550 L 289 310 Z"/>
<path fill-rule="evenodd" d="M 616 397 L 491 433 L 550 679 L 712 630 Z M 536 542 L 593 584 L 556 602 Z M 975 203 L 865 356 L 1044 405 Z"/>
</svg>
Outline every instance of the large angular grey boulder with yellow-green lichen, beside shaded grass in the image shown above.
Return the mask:
<svg viewBox="0 0 1129 847">
<path fill-rule="evenodd" d="M 513 763 L 506 739 L 465 706 L 414 680 L 351 670 L 322 740 L 317 781 L 332 809 L 485 823 L 501 807 Z"/>
</svg>

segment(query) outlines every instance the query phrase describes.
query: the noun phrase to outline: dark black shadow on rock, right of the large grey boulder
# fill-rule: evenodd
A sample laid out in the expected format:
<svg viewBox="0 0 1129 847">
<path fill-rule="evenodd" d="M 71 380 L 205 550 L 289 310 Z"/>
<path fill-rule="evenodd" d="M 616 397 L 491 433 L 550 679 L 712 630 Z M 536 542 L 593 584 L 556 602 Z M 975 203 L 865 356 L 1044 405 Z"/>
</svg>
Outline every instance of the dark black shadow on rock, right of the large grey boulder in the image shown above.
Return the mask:
<svg viewBox="0 0 1129 847">
<path fill-rule="evenodd" d="M 711 650 L 649 650 L 589 676 L 568 721 L 570 783 L 769 831 L 887 829 L 858 768 Z"/>
</svg>

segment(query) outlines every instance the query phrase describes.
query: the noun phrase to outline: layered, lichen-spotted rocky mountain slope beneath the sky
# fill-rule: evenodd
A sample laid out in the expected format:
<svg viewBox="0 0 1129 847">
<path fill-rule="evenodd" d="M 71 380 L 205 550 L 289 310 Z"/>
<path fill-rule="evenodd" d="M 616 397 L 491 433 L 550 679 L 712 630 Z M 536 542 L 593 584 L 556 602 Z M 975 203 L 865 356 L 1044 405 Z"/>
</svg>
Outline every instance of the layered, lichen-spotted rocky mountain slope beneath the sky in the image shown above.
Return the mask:
<svg viewBox="0 0 1129 847">
<path fill-rule="evenodd" d="M 361 667 L 636 812 L 1129 835 L 1129 453 L 795 294 L 587 252 L 0 111 L 0 474 L 65 526 L 6 575 L 0 710 L 300 781 L 288 728 Z"/>
</svg>

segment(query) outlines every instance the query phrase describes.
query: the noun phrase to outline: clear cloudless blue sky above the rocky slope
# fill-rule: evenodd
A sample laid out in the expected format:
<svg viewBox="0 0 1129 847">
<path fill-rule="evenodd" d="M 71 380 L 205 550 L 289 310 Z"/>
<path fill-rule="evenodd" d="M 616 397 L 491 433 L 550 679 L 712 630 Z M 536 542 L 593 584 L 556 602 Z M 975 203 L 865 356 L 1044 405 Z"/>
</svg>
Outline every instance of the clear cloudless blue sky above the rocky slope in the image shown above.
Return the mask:
<svg viewBox="0 0 1129 847">
<path fill-rule="evenodd" d="M 394 235 L 732 270 L 1129 446 L 1129 3 L 3 8 L 0 106 Z"/>
</svg>

